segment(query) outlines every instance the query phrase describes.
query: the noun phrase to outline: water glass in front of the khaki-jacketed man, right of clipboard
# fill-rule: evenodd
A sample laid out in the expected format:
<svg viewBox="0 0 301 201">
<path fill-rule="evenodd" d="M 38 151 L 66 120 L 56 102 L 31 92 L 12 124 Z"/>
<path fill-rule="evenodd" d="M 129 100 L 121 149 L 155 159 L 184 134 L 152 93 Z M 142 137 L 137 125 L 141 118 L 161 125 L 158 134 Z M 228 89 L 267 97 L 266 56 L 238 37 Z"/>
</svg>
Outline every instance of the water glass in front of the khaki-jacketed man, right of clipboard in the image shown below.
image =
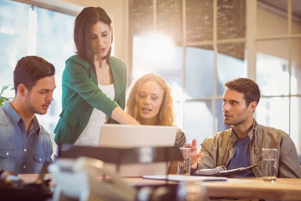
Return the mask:
<svg viewBox="0 0 301 201">
<path fill-rule="evenodd" d="M 262 149 L 263 180 L 276 181 L 277 149 Z"/>
</svg>

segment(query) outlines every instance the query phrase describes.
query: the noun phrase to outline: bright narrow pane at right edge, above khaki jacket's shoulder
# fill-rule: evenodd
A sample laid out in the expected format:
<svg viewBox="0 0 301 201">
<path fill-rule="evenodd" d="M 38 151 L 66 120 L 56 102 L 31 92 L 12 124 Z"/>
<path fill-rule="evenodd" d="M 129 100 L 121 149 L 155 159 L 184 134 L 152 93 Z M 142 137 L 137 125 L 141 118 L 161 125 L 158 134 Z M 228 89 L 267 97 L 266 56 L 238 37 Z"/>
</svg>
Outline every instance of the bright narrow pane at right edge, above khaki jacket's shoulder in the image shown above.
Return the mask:
<svg viewBox="0 0 301 201">
<path fill-rule="evenodd" d="M 301 97 L 290 99 L 290 137 L 301 154 Z"/>
</svg>

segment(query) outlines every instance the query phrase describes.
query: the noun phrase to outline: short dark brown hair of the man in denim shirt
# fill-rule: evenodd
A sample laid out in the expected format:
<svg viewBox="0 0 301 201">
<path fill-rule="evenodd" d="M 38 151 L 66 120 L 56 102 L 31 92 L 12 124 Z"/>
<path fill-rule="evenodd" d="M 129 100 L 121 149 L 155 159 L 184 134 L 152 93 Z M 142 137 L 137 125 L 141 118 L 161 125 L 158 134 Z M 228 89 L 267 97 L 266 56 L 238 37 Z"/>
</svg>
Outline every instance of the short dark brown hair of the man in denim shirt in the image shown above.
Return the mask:
<svg viewBox="0 0 301 201">
<path fill-rule="evenodd" d="M 37 81 L 54 75 L 54 66 L 39 56 L 21 58 L 14 70 L 14 87 L 17 94 L 18 86 L 24 84 L 30 91 Z"/>
</svg>

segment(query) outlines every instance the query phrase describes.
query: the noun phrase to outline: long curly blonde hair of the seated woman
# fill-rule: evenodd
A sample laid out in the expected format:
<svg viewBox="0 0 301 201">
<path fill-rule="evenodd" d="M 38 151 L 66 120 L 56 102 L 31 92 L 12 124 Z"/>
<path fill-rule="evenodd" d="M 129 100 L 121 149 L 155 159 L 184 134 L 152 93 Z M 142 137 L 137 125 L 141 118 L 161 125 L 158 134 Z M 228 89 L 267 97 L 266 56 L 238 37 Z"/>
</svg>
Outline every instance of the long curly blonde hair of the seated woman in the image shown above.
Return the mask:
<svg viewBox="0 0 301 201">
<path fill-rule="evenodd" d="M 158 126 L 176 126 L 176 118 L 173 110 L 172 89 L 160 75 L 156 73 L 145 74 L 142 77 L 132 81 L 127 89 L 127 98 L 125 111 L 132 116 L 137 122 L 141 123 L 138 111 L 138 93 L 143 83 L 146 81 L 155 81 L 163 90 L 163 100 L 158 113 Z"/>
</svg>

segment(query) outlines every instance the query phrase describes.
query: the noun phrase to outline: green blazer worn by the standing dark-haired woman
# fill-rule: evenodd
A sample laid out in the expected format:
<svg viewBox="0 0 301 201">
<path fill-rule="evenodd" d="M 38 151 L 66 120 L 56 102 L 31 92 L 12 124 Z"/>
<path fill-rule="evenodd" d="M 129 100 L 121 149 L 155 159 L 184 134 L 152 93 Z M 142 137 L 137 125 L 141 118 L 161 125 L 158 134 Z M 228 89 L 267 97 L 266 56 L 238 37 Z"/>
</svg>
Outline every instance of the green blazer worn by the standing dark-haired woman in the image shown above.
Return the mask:
<svg viewBox="0 0 301 201">
<path fill-rule="evenodd" d="M 62 113 L 54 130 L 56 144 L 74 144 L 88 124 L 94 108 L 110 117 L 119 105 L 124 110 L 127 85 L 127 67 L 124 61 L 110 57 L 114 79 L 115 100 L 108 98 L 99 88 L 95 69 L 78 55 L 66 61 L 62 76 Z"/>
</svg>

